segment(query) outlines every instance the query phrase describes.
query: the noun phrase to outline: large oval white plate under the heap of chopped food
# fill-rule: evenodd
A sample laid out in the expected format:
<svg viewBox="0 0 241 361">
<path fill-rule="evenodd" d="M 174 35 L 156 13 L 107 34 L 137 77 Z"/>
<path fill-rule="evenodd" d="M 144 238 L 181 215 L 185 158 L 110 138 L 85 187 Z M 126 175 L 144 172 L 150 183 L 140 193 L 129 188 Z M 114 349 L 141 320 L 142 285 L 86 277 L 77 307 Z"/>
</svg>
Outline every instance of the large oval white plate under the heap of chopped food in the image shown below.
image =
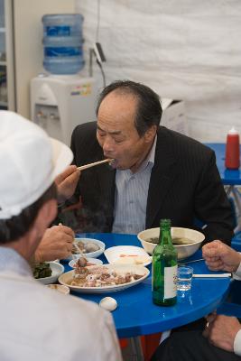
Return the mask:
<svg viewBox="0 0 241 361">
<path fill-rule="evenodd" d="M 97 267 L 96 265 L 91 265 L 91 268 Z M 89 268 L 90 268 L 89 267 Z M 116 284 L 113 286 L 104 286 L 104 287 L 80 287 L 80 286 L 71 286 L 68 282 L 73 279 L 74 271 L 70 271 L 67 273 L 63 273 L 59 277 L 59 282 L 64 286 L 70 287 L 71 291 L 79 292 L 79 293 L 106 293 L 106 292 L 117 292 L 125 290 L 126 288 L 132 287 L 135 284 L 143 282 L 146 277 L 148 277 L 150 271 L 145 268 L 143 265 L 124 265 L 124 264 L 103 264 L 99 265 L 99 267 L 107 267 L 112 271 L 116 271 L 117 273 L 127 273 L 134 272 L 137 274 L 142 274 L 143 276 L 139 278 L 139 280 L 135 280 L 132 282 L 127 282 L 123 284 Z"/>
</svg>

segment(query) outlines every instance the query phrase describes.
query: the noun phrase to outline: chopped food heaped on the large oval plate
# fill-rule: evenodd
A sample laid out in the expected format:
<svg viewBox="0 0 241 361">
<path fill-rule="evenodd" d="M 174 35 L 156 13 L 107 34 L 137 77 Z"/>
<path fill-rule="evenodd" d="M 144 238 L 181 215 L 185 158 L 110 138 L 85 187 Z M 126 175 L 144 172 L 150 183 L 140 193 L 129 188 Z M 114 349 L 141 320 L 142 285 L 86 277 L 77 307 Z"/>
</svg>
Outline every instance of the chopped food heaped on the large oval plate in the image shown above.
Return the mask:
<svg viewBox="0 0 241 361">
<path fill-rule="evenodd" d="M 106 287 L 139 280 L 144 274 L 134 272 L 116 272 L 107 266 L 75 268 L 74 277 L 68 282 L 70 286 Z"/>
</svg>

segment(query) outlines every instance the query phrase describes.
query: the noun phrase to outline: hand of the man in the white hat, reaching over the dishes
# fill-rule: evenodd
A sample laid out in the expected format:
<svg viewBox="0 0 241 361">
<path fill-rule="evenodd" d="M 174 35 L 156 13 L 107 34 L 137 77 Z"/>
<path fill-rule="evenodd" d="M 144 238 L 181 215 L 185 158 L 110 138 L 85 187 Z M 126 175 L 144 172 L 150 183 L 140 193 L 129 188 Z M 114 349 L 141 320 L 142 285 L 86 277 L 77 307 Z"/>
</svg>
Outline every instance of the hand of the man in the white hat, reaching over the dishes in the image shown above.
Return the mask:
<svg viewBox="0 0 241 361">
<path fill-rule="evenodd" d="M 48 228 L 35 252 L 35 261 L 53 261 L 69 257 L 73 240 L 74 232 L 70 227 L 53 226 Z"/>
</svg>

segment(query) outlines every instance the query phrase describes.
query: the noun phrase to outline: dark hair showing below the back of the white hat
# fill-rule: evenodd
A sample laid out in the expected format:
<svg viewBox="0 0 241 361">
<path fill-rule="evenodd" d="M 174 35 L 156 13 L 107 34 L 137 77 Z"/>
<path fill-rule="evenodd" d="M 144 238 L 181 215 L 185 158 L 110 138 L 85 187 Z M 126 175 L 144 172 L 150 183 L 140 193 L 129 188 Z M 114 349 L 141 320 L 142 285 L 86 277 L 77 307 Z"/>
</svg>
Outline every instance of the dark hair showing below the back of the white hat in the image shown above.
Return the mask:
<svg viewBox="0 0 241 361">
<path fill-rule="evenodd" d="M 19 216 L 0 219 L 0 244 L 7 244 L 24 236 L 31 228 L 42 205 L 49 199 L 57 199 L 55 183 L 43 193 L 40 199 L 32 203 L 31 206 L 24 208 Z"/>
</svg>

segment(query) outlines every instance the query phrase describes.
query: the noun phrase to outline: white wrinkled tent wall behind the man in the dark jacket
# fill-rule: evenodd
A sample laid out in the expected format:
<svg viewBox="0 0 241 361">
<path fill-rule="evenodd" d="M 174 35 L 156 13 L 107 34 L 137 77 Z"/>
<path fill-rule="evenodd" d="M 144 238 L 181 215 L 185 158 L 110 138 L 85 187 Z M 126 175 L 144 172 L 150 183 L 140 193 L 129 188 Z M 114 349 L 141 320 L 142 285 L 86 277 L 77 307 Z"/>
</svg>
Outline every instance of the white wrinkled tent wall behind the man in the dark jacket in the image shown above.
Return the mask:
<svg viewBox="0 0 241 361">
<path fill-rule="evenodd" d="M 240 0 L 76 0 L 76 9 L 87 66 L 98 41 L 107 83 L 132 79 L 185 100 L 190 136 L 201 142 L 225 142 L 231 125 L 241 133 Z M 101 87 L 96 66 L 94 76 Z"/>
</svg>

